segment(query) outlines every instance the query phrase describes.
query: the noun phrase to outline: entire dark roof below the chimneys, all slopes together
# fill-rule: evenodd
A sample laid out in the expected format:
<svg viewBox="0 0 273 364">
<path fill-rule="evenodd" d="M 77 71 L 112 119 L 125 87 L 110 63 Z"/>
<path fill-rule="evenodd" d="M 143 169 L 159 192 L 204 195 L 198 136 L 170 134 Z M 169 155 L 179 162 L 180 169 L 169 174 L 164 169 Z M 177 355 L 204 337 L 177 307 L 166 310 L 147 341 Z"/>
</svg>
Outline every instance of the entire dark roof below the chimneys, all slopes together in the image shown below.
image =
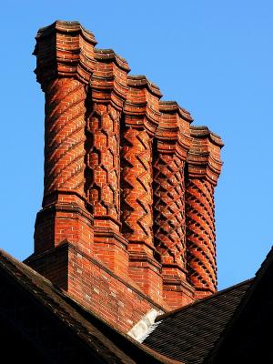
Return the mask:
<svg viewBox="0 0 273 364">
<path fill-rule="evenodd" d="M 27 340 L 31 349 L 34 345 L 35 358 L 26 356 L 30 364 L 271 362 L 267 333 L 273 325 L 272 281 L 273 249 L 255 278 L 159 316 L 143 345 L 0 250 L 3 350 L 8 355 L 13 352 L 5 348 L 10 330 L 12 348 L 20 347 L 21 357 Z M 63 357 L 56 358 L 62 350 Z"/>
</svg>

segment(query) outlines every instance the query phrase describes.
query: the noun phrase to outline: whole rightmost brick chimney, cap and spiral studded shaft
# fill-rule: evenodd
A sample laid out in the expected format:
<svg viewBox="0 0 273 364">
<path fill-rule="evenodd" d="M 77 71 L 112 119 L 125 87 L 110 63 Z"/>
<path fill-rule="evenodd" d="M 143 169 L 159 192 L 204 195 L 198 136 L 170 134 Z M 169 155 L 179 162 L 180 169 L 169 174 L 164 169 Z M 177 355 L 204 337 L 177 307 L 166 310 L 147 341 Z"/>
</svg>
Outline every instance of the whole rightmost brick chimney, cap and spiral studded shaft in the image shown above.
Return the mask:
<svg viewBox="0 0 273 364">
<path fill-rule="evenodd" d="M 196 288 L 195 298 L 217 290 L 214 188 L 221 172 L 219 136 L 206 126 L 191 127 L 192 144 L 187 155 L 187 269 Z"/>
</svg>

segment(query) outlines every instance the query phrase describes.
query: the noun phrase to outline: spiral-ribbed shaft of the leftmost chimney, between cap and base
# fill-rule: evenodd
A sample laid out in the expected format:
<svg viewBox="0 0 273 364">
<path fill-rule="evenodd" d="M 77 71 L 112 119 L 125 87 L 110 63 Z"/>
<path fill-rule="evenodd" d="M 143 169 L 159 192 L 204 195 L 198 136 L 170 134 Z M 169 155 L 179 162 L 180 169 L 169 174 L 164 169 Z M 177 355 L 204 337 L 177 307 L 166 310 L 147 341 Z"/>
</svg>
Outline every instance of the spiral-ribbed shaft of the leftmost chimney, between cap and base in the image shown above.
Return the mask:
<svg viewBox="0 0 273 364">
<path fill-rule="evenodd" d="M 85 100 L 76 79 L 57 78 L 45 88 L 45 194 L 84 193 Z"/>
</svg>

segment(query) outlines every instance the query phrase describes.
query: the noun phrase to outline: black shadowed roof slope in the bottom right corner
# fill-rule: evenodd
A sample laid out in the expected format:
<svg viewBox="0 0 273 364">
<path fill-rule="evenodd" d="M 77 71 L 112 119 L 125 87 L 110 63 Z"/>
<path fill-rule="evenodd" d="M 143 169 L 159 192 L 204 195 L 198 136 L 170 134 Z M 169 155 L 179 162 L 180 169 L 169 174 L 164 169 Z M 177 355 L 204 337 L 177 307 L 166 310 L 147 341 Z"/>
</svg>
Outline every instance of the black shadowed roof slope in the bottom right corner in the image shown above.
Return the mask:
<svg viewBox="0 0 273 364">
<path fill-rule="evenodd" d="M 272 363 L 273 248 L 206 363 Z"/>
</svg>

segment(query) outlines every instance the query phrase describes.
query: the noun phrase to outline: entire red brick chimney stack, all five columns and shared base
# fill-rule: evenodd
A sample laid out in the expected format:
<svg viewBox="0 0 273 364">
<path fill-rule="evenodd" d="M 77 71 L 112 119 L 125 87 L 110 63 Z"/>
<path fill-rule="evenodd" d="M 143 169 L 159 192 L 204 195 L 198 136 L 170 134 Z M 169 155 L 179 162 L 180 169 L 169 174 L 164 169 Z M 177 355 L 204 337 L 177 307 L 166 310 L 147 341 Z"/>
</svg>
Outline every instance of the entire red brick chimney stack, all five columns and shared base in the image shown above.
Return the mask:
<svg viewBox="0 0 273 364">
<path fill-rule="evenodd" d="M 36 36 L 45 189 L 25 262 L 127 332 L 150 311 L 215 291 L 222 144 L 190 127 L 176 102 L 161 102 L 146 76 L 128 76 L 125 59 L 95 45 L 77 22 L 56 21 Z"/>
</svg>

